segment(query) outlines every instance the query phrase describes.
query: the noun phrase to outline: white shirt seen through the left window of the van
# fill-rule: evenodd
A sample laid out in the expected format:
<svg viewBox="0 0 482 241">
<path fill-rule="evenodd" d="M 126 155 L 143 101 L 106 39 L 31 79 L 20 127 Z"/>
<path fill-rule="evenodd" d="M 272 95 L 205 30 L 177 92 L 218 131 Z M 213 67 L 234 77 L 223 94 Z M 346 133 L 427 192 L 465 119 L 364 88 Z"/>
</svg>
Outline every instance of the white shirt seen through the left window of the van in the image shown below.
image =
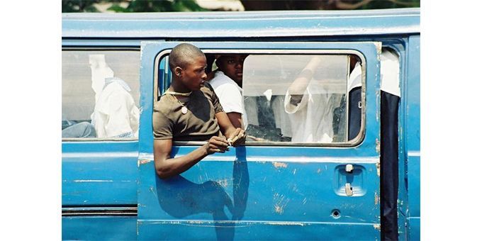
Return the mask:
<svg viewBox="0 0 482 241">
<path fill-rule="evenodd" d="M 139 108 L 129 91 L 122 79 L 106 78 L 106 85 L 92 113 L 97 138 L 138 137 Z"/>
</svg>

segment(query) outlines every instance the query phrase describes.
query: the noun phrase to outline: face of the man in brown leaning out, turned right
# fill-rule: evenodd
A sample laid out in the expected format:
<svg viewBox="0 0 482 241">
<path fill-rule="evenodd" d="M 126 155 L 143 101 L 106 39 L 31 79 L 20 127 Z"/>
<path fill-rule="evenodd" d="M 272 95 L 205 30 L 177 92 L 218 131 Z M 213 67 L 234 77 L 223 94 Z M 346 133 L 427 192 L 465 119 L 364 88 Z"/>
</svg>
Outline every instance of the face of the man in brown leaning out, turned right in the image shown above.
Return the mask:
<svg viewBox="0 0 482 241">
<path fill-rule="evenodd" d="M 182 82 L 191 91 L 199 90 L 206 82 L 206 57 L 195 57 L 190 64 L 183 69 Z"/>
</svg>

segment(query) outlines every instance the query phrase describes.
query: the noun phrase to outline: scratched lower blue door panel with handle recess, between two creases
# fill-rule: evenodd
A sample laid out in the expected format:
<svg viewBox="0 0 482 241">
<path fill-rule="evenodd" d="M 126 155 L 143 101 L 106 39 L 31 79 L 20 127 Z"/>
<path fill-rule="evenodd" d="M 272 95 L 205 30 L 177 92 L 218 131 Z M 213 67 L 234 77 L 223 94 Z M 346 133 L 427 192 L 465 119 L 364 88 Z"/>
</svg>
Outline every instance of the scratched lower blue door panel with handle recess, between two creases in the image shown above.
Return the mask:
<svg viewBox="0 0 482 241">
<path fill-rule="evenodd" d="M 376 164 L 354 168 L 348 174 L 344 165 L 331 162 L 201 161 L 181 176 L 163 180 L 155 176 L 153 162 L 147 162 L 140 172 L 152 175 L 139 186 L 148 191 L 139 194 L 138 217 L 377 224 Z M 344 192 L 347 182 L 353 196 Z M 334 210 L 339 216 L 332 215 Z"/>
</svg>

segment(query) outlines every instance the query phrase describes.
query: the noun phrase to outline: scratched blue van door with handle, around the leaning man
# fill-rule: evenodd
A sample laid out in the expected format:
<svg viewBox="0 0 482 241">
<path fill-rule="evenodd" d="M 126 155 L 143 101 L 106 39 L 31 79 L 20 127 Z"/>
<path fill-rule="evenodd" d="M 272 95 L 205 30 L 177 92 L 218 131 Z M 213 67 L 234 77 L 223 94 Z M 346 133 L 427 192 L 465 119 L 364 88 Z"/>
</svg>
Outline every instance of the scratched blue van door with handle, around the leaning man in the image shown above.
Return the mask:
<svg viewBox="0 0 482 241">
<path fill-rule="evenodd" d="M 138 239 L 380 238 L 381 43 L 193 43 L 206 55 L 249 55 L 243 74 L 245 99 L 261 88 L 253 88 L 245 82 L 262 74 L 253 70 L 264 69 L 256 63 L 267 67 L 278 62 L 280 76 L 289 80 L 294 76 L 290 66 L 301 65 L 307 55 L 320 55 L 323 60 L 330 61 L 356 56 L 361 63 L 360 97 L 356 101 L 359 128 L 354 128 L 357 129 L 356 138 L 349 140 L 348 131 L 352 127 L 344 125 L 346 132 L 342 135 L 345 138 L 339 142 L 291 142 L 290 138 L 285 142 L 247 141 L 245 146 L 210 155 L 183 174 L 163 180 L 157 177 L 153 162 L 152 106 L 157 95 L 169 86 L 169 79 L 165 78 L 169 72 L 165 57 L 178 44 L 144 42 L 141 47 Z M 286 62 L 288 60 L 291 62 Z M 345 65 L 344 76 L 338 75 L 348 82 L 349 61 Z M 267 82 L 257 81 L 259 86 Z M 346 82 L 343 103 L 346 108 L 355 108 L 349 104 L 353 101 L 348 99 L 349 84 Z M 328 86 L 333 82 L 325 79 L 323 83 Z M 252 89 L 250 93 L 248 89 Z M 273 94 L 276 91 L 278 96 L 283 96 L 286 92 L 286 88 L 270 89 L 271 94 L 262 91 L 265 96 L 276 96 Z M 333 111 L 328 111 L 327 115 L 336 116 Z M 341 119 L 349 123 L 349 111 Z M 172 155 L 186 155 L 199 145 L 198 142 L 176 142 Z"/>
</svg>

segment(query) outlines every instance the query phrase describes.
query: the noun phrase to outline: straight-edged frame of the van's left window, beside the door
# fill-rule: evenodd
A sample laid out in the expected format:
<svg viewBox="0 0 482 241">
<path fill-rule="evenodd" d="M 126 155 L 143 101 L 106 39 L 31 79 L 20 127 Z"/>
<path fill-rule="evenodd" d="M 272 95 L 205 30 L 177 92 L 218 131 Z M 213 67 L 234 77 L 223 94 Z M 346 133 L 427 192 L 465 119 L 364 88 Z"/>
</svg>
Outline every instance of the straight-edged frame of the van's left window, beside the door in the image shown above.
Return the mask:
<svg viewBox="0 0 482 241">
<path fill-rule="evenodd" d="M 141 57 L 141 50 L 140 47 L 62 47 L 62 52 L 64 51 L 132 51 L 132 52 L 139 52 L 139 63 Z M 140 64 L 141 65 L 141 64 Z M 138 76 L 140 82 L 140 65 L 138 69 Z M 139 89 L 139 96 L 142 96 L 142 93 Z M 141 108 L 140 106 L 138 106 Z M 140 129 L 140 123 L 139 123 Z M 139 137 L 137 138 L 62 138 L 62 142 L 104 142 L 104 141 L 115 141 L 115 142 L 129 142 L 129 141 L 138 141 Z"/>
</svg>

